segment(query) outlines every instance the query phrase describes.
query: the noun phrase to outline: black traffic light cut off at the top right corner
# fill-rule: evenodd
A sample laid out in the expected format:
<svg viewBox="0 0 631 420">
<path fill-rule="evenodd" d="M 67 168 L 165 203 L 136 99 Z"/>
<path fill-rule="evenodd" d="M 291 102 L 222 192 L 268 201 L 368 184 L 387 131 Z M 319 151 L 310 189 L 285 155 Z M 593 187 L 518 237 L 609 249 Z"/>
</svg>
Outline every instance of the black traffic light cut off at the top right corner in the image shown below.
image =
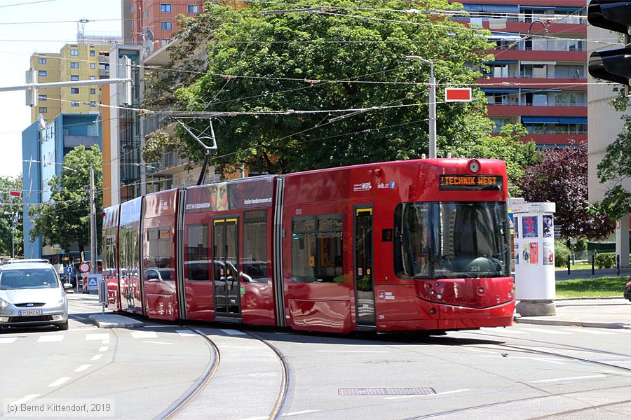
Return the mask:
<svg viewBox="0 0 631 420">
<path fill-rule="evenodd" d="M 625 34 L 625 46 L 592 52 L 588 69 L 592 76 L 621 83 L 628 91 L 631 78 L 631 1 L 591 0 L 588 22 L 595 27 Z"/>
</svg>

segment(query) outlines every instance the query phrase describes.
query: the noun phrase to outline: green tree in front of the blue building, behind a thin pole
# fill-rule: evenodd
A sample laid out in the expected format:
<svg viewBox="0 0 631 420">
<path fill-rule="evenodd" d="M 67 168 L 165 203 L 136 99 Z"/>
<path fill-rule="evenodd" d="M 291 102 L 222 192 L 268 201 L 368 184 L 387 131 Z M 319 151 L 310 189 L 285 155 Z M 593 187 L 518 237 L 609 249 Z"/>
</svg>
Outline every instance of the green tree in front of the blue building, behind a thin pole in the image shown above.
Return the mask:
<svg viewBox="0 0 631 420">
<path fill-rule="evenodd" d="M 78 146 L 64 158 L 61 176 L 53 176 L 48 186 L 53 191 L 50 201 L 29 209 L 34 228 L 30 237 L 42 237 L 43 245 L 59 244 L 68 250 L 72 244 L 83 251 L 90 244 L 90 167 L 94 169 L 95 206 L 103 207 L 102 156 L 98 146 Z M 100 235 L 102 218 L 97 217 Z M 100 239 L 97 238 L 97 244 Z"/>
</svg>

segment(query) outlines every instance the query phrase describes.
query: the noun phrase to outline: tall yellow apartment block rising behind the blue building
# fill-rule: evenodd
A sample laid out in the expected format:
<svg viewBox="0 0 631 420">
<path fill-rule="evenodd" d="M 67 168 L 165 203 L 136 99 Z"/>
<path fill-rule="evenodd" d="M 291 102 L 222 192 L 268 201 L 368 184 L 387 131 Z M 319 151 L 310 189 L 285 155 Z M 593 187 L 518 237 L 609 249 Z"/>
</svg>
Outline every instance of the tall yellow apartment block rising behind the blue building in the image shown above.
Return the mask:
<svg viewBox="0 0 631 420">
<path fill-rule="evenodd" d="M 39 83 L 109 78 L 111 45 L 66 44 L 59 53 L 35 52 L 31 66 Z M 37 92 L 38 104 L 31 109 L 33 123 L 41 113 L 53 120 L 60 113 L 98 113 L 99 87 L 50 87 Z"/>
</svg>

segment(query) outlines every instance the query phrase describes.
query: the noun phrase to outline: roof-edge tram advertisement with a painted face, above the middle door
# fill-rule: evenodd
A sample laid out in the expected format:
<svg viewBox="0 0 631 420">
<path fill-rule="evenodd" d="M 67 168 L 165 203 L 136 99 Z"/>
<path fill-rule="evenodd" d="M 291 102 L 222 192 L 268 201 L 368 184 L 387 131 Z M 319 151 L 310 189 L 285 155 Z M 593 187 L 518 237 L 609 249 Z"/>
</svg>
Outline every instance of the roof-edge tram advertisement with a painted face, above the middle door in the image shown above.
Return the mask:
<svg viewBox="0 0 631 420">
<path fill-rule="evenodd" d="M 272 194 L 271 179 L 222 182 L 202 188 L 189 188 L 186 194 L 186 211 L 225 211 L 269 207 Z"/>
</svg>

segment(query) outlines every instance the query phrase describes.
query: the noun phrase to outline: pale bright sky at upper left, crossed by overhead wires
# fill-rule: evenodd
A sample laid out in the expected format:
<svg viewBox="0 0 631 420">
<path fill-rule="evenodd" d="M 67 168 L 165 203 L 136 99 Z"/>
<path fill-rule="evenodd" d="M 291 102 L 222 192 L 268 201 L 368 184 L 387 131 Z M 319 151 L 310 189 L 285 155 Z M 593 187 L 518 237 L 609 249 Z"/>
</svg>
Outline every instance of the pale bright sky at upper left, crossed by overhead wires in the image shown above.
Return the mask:
<svg viewBox="0 0 631 420">
<path fill-rule="evenodd" d="M 94 20 L 86 32 L 121 32 L 121 0 L 0 0 L 0 86 L 25 83 L 33 52 L 76 43 L 81 19 Z M 72 22 L 52 22 L 60 20 Z M 22 172 L 22 130 L 30 118 L 23 90 L 0 92 L 0 176 Z"/>
</svg>

